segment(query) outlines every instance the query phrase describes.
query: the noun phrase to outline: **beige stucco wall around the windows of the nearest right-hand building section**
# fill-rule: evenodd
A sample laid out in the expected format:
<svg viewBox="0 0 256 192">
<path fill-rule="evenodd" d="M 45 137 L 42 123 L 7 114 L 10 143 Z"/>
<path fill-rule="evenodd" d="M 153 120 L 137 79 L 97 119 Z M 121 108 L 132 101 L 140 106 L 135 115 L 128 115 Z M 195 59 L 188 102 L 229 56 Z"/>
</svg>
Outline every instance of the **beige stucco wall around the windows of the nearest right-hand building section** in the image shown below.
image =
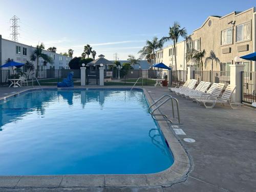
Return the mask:
<svg viewBox="0 0 256 192">
<path fill-rule="evenodd" d="M 201 39 L 201 50 L 206 51 L 206 57 L 209 55 L 210 51 L 213 50 L 216 56 L 220 59 L 221 62 L 231 62 L 234 64 L 234 57 L 243 56 L 253 52 L 253 12 L 254 9 L 249 9 L 241 13 L 231 13 L 223 17 L 213 17 L 209 16 L 204 23 L 204 25 L 195 30 L 191 39 L 195 40 Z M 208 25 L 209 20 L 211 20 L 211 25 Z M 231 21 L 236 21 L 236 23 L 228 24 Z M 250 22 L 251 34 L 250 39 L 242 42 L 236 41 L 236 26 Z M 255 25 L 255 24 L 254 24 Z M 232 28 L 232 43 L 229 45 L 221 45 L 221 31 Z M 238 51 L 238 46 L 248 45 L 249 49 L 247 51 Z M 222 49 L 230 48 L 230 53 L 222 53 Z M 203 62 L 205 58 L 203 59 Z M 204 70 L 211 70 L 211 63 L 207 63 Z M 220 64 L 216 65 L 214 63 L 214 70 L 220 70 Z"/>
</svg>

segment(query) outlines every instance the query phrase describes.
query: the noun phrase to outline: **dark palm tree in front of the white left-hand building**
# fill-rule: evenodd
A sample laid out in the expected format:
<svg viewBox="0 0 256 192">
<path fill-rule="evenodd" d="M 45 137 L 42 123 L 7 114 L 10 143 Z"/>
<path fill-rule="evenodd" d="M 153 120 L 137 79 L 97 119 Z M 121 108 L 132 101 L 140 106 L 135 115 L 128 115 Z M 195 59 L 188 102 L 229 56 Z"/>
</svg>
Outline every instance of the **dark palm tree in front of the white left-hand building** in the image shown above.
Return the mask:
<svg viewBox="0 0 256 192">
<path fill-rule="evenodd" d="M 39 68 L 39 58 L 44 59 L 45 61 L 52 63 L 52 59 L 42 51 L 45 49 L 44 44 L 41 43 L 41 45 L 37 45 L 35 50 L 33 51 L 33 54 L 30 56 L 31 61 L 36 60 L 36 69 Z M 36 77 L 38 75 L 38 72 L 36 71 Z"/>
</svg>

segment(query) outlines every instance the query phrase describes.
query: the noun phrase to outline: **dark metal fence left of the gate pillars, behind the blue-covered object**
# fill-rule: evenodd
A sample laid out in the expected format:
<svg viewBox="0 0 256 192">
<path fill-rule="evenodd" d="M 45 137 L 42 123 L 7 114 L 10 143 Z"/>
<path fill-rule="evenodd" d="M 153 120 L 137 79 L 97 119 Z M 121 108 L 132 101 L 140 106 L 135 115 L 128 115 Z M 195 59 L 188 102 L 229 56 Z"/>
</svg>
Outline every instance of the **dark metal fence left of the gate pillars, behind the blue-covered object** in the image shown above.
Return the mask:
<svg viewBox="0 0 256 192">
<path fill-rule="evenodd" d="M 80 69 L 61 69 L 61 70 L 14 70 L 14 74 L 25 77 L 28 85 L 37 85 L 36 77 L 41 86 L 56 86 L 63 78 L 67 78 L 70 72 L 74 72 L 73 81 L 75 85 L 81 84 Z"/>
</svg>

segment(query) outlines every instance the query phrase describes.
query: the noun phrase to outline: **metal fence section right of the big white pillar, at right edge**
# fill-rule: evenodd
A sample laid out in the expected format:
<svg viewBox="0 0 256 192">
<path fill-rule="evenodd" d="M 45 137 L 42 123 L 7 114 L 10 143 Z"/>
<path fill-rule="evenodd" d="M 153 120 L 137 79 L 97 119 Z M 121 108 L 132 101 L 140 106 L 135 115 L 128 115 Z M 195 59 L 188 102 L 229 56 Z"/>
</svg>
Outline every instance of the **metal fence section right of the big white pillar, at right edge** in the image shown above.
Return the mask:
<svg viewBox="0 0 256 192">
<path fill-rule="evenodd" d="M 242 103 L 256 102 L 256 72 L 241 72 Z"/>
</svg>

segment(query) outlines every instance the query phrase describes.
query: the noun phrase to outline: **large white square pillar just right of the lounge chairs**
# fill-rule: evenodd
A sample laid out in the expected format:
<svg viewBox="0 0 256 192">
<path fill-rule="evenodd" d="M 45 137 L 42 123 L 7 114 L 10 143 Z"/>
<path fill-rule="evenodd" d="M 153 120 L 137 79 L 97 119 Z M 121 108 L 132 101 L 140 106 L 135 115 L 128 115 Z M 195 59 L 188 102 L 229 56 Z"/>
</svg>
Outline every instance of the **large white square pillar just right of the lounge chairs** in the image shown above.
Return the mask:
<svg viewBox="0 0 256 192">
<path fill-rule="evenodd" d="M 242 78 L 241 78 L 241 72 L 244 71 L 245 65 L 230 65 L 230 86 L 234 87 L 236 86 L 236 90 L 234 90 L 232 99 L 234 102 L 241 102 L 241 91 L 243 89 L 242 87 Z"/>
</svg>

